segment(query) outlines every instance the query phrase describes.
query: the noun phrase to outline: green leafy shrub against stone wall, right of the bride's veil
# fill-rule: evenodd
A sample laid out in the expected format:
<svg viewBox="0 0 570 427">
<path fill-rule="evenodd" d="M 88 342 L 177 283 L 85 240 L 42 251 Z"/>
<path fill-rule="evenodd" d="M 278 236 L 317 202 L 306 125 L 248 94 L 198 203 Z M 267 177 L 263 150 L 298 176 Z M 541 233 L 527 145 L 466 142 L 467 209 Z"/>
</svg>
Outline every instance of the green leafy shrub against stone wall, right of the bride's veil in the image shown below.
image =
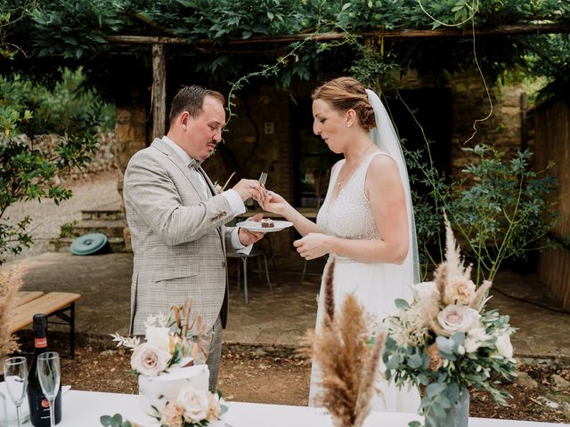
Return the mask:
<svg viewBox="0 0 570 427">
<path fill-rule="evenodd" d="M 510 159 L 488 146 L 465 148 L 474 163 L 460 178 L 445 177 L 422 162 L 421 153 L 408 153 L 418 171 L 415 177 L 426 189 L 414 192 L 414 214 L 423 276 L 443 259 L 443 213 L 459 231 L 465 254 L 475 262 L 476 283 L 493 280 L 509 259 L 525 260 L 527 254 L 549 245 L 549 230 L 558 221 L 556 180 L 535 173 L 528 165 L 532 153 L 516 151 Z"/>
</svg>

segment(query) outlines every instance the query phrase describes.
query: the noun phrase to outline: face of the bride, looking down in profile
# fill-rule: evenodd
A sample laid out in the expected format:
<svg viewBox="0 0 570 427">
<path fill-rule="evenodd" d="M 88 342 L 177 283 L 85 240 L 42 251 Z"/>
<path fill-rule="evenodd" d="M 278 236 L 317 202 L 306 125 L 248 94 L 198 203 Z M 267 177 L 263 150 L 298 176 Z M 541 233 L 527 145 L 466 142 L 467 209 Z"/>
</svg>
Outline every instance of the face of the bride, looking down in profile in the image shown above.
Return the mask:
<svg viewBox="0 0 570 427">
<path fill-rule="evenodd" d="M 346 115 L 333 109 L 323 100 L 313 101 L 313 132 L 335 153 L 342 153 L 346 147 Z"/>
</svg>

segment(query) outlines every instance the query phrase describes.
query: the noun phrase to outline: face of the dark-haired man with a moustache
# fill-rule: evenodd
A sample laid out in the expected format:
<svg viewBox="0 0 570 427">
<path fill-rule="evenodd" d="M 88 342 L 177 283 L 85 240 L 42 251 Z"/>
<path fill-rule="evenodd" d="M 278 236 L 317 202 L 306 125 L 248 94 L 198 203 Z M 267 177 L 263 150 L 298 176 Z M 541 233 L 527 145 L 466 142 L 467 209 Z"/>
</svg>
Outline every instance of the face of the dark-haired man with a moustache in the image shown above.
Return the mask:
<svg viewBox="0 0 570 427">
<path fill-rule="evenodd" d="M 224 105 L 216 98 L 207 96 L 199 116 L 189 116 L 185 123 L 188 154 L 200 161 L 210 157 L 216 145 L 222 141 L 224 125 Z"/>
</svg>

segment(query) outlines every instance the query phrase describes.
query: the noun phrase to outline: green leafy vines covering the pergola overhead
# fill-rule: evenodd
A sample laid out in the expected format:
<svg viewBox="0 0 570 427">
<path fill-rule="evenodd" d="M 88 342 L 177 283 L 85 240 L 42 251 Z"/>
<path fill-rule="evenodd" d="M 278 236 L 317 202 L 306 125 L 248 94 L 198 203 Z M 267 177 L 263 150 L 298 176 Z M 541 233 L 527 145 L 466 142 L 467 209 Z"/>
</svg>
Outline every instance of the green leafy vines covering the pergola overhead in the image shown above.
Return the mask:
<svg viewBox="0 0 570 427">
<path fill-rule="evenodd" d="M 10 16 L 18 4 L 32 4 L 31 14 L 22 20 Z M 49 0 L 38 4 L 24 0 L 0 1 L 0 20 L 11 28 L 0 45 L 18 40 L 28 58 L 61 58 L 68 64 L 82 64 L 92 85 L 109 85 L 117 70 L 109 62 L 125 53 L 144 68 L 150 67 L 147 48 L 138 45 L 111 45 L 108 36 L 179 36 L 193 44 L 185 46 L 180 56 L 191 58 L 191 72 L 207 71 L 216 83 L 235 80 L 253 68 L 263 68 L 281 58 L 283 52 L 295 50 L 294 45 L 281 43 L 255 44 L 259 54 L 240 54 L 241 44 L 253 37 L 288 36 L 313 33 L 327 27 L 330 31 L 350 33 L 353 37 L 366 31 L 394 29 L 429 29 L 438 26 L 463 28 L 492 27 L 500 24 L 525 25 L 533 22 L 565 23 L 570 20 L 570 4 L 559 0 Z M 8 18 L 6 18 L 8 17 Z M 1 24 L 0 24 L 0 28 Z M 321 29 L 320 29 L 321 28 Z M 504 68 L 528 69 L 531 75 L 545 75 L 551 80 L 566 82 L 570 56 L 568 36 L 505 36 L 501 43 L 481 38 L 477 52 L 485 74 L 501 76 Z M 210 42 L 210 43 L 208 43 Z M 369 47 L 374 40 L 368 40 Z M 416 68 L 422 74 L 441 74 L 444 70 L 461 70 L 475 66 L 473 46 L 465 39 L 433 39 L 385 41 L 379 37 L 374 46 L 383 61 L 394 62 L 396 68 Z M 362 39 L 360 40 L 362 44 Z M 346 69 L 362 60 L 362 51 L 352 44 L 305 44 L 296 60 L 281 64 L 276 77 L 287 87 L 290 79 L 319 76 L 323 69 Z M 199 46 L 199 50 L 195 50 Z M 246 45 L 244 45 L 246 46 Z M 322 55 L 334 47 L 336 54 Z M 174 51 L 175 48 L 172 47 Z M 251 49 L 251 47 L 246 49 Z M 14 49 L 12 48 L 13 52 Z M 180 52 L 180 51 L 178 51 Z M 20 55 L 22 57 L 23 55 Z M 112 59 L 111 59 L 112 58 Z M 533 62 L 535 66 L 528 67 Z M 12 61 L 7 70 L 24 69 Z M 61 62 L 60 62 L 61 65 Z M 106 66 L 107 65 L 107 66 Z M 372 65 L 370 63 L 369 65 Z M 46 73 L 50 62 L 42 68 L 26 68 L 31 73 Z M 238 76 L 238 77 L 236 77 Z M 274 77 L 272 77 L 274 78 Z M 566 85 L 570 86 L 570 85 Z M 560 87 L 566 87 L 561 85 Z M 106 87 L 112 96 L 112 88 Z"/>
</svg>

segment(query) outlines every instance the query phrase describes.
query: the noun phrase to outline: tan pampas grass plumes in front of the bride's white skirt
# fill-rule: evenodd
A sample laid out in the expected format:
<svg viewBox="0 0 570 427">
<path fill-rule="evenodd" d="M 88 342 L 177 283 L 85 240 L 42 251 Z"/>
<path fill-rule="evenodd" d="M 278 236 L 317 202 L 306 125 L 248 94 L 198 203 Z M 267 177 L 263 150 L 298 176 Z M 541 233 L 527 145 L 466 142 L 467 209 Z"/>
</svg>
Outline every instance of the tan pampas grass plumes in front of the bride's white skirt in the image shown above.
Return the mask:
<svg viewBox="0 0 570 427">
<path fill-rule="evenodd" d="M 322 373 L 317 384 L 322 391 L 315 396 L 315 405 L 329 411 L 336 427 L 359 427 L 370 414 L 377 392 L 386 333 L 376 328 L 377 322 L 352 294 L 335 312 L 334 268 L 333 259 L 325 278 L 322 325 L 308 335 L 303 350 L 313 356 Z"/>
</svg>

